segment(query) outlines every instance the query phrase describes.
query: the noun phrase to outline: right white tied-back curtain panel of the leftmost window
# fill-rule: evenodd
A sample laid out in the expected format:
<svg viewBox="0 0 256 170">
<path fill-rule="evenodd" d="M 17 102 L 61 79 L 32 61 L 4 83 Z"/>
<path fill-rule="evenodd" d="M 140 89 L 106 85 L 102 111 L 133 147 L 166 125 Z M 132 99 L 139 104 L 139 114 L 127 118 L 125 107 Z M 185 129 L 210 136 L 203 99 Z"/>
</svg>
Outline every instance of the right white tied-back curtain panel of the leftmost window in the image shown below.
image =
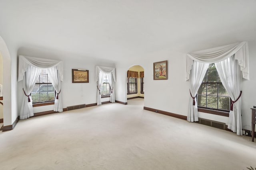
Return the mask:
<svg viewBox="0 0 256 170">
<path fill-rule="evenodd" d="M 61 97 L 62 96 L 61 81 L 60 81 L 60 75 L 58 74 L 57 66 L 48 68 L 47 71 L 48 71 L 49 79 L 52 82 L 52 86 L 56 91 L 53 111 L 62 112 L 63 106 L 62 106 L 62 97 Z"/>
</svg>

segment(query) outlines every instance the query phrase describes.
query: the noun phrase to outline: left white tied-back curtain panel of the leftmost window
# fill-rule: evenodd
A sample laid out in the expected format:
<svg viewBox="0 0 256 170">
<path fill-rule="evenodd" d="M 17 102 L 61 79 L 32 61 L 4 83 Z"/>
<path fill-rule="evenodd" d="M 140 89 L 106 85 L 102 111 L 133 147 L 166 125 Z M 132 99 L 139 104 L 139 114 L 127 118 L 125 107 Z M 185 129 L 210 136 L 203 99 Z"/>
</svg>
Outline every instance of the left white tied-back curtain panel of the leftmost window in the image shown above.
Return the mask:
<svg viewBox="0 0 256 170">
<path fill-rule="evenodd" d="M 34 115 L 30 93 L 32 92 L 32 89 L 36 84 L 36 80 L 40 72 L 41 68 L 36 68 L 31 65 L 29 65 L 26 69 L 23 78 L 23 99 L 20 110 L 20 119 L 27 119 L 30 116 Z"/>
</svg>

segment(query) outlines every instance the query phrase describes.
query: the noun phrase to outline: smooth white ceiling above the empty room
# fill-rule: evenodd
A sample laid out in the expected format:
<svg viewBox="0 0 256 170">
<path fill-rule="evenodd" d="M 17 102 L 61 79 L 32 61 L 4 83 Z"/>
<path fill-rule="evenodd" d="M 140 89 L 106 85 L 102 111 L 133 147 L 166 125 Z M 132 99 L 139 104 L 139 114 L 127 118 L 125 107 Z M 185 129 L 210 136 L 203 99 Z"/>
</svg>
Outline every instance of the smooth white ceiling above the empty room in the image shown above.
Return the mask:
<svg viewBox="0 0 256 170">
<path fill-rule="evenodd" d="M 111 60 L 187 53 L 256 41 L 256 0 L 0 0 L 0 36 Z"/>
</svg>

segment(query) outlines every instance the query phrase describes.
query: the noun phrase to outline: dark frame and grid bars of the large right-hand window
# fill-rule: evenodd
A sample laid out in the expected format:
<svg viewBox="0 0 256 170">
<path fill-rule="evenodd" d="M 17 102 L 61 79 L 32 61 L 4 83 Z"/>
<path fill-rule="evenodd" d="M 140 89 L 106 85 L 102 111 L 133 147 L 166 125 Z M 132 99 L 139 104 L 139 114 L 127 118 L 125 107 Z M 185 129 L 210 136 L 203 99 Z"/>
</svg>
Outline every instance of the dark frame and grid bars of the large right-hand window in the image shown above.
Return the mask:
<svg viewBox="0 0 256 170">
<path fill-rule="evenodd" d="M 212 64 L 212 63 L 211 63 Z M 220 78 L 219 78 L 219 74 L 218 74 L 218 70 L 217 69 L 214 69 L 216 70 L 216 73 L 217 73 L 217 81 L 216 82 L 208 82 L 207 80 L 207 73 L 209 71 L 209 68 L 207 69 L 206 71 L 206 74 L 205 74 L 205 77 L 204 77 L 204 80 L 203 82 L 201 83 L 200 86 L 202 86 L 202 84 L 205 84 L 205 87 L 206 87 L 206 94 L 205 95 L 202 95 L 202 94 L 196 94 L 196 100 L 198 102 L 198 96 L 205 96 L 206 97 L 206 106 L 207 106 L 207 96 L 216 96 L 217 97 L 217 108 L 211 108 L 211 107 L 204 107 L 204 106 L 198 106 L 198 111 L 201 111 L 201 112 L 204 112 L 204 113 L 211 113 L 211 114 L 216 114 L 216 115 L 222 115 L 222 116 L 228 116 L 229 115 L 229 112 L 230 112 L 230 104 L 231 104 L 231 98 L 230 96 L 223 96 L 223 95 L 219 95 L 219 85 L 222 84 L 222 82 L 220 81 Z M 219 82 L 220 81 L 220 82 Z M 217 92 L 216 92 L 216 95 L 212 95 L 212 94 L 207 94 L 207 87 L 208 87 L 208 84 L 217 84 Z M 226 110 L 226 109 L 218 109 L 218 103 L 219 103 L 219 100 L 218 98 L 219 97 L 226 97 L 226 98 L 229 98 L 229 110 Z"/>
</svg>

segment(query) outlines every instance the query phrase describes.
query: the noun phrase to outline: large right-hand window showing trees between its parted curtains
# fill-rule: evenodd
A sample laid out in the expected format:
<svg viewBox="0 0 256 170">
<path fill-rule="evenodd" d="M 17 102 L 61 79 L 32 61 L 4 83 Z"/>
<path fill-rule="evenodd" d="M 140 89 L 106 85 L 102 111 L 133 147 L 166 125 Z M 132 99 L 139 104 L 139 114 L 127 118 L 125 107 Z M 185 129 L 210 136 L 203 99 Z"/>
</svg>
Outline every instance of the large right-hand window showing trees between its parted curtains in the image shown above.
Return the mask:
<svg viewBox="0 0 256 170">
<path fill-rule="evenodd" d="M 197 96 L 198 107 L 220 111 L 230 110 L 230 97 L 220 81 L 214 63 L 209 65 Z"/>
</svg>

